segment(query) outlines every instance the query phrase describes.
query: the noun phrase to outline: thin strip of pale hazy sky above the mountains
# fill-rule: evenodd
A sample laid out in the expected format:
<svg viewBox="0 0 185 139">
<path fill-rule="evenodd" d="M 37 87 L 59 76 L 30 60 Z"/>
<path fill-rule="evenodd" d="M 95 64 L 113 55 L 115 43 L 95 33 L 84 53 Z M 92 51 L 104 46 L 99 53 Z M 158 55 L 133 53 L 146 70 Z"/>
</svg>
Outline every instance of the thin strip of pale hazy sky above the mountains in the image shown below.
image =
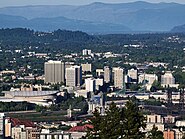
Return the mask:
<svg viewBox="0 0 185 139">
<path fill-rule="evenodd" d="M 126 3 L 137 0 L 0 0 L 0 7 L 7 6 L 22 6 L 22 5 L 84 5 L 92 2 L 104 2 L 104 3 Z M 144 0 L 147 2 L 176 2 L 184 3 L 185 0 Z"/>
</svg>

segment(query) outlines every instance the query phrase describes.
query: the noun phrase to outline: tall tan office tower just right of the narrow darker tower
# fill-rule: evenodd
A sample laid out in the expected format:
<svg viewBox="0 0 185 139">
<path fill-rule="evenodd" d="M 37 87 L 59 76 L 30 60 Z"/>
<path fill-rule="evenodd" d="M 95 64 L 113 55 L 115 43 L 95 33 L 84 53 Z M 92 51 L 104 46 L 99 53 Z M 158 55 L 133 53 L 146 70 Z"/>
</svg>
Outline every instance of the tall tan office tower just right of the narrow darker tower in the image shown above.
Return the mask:
<svg viewBox="0 0 185 139">
<path fill-rule="evenodd" d="M 114 86 L 116 88 L 122 89 L 123 83 L 124 83 L 124 75 L 123 75 L 123 69 L 120 67 L 114 68 Z"/>
</svg>

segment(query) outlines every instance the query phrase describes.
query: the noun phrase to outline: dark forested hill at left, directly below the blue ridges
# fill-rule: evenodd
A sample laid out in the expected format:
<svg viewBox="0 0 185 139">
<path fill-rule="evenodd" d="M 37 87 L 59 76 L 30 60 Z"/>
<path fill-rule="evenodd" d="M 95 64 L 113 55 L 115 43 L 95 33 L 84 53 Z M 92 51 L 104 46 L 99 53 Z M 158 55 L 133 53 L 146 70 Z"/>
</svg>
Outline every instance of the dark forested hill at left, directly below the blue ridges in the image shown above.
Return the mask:
<svg viewBox="0 0 185 139">
<path fill-rule="evenodd" d="M 35 32 L 23 28 L 0 29 L 0 42 L 3 44 L 91 43 L 94 40 L 95 37 L 81 31 Z"/>
</svg>

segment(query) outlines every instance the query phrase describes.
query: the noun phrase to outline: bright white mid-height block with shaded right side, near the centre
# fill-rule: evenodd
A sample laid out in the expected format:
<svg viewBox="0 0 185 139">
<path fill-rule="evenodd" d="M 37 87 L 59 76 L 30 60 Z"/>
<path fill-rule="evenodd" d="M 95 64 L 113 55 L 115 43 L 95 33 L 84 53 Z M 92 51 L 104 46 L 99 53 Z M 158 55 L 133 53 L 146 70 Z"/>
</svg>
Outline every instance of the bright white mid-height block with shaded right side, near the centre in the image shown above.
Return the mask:
<svg viewBox="0 0 185 139">
<path fill-rule="evenodd" d="M 96 80 L 92 78 L 85 79 L 85 88 L 89 92 L 95 92 Z"/>
</svg>

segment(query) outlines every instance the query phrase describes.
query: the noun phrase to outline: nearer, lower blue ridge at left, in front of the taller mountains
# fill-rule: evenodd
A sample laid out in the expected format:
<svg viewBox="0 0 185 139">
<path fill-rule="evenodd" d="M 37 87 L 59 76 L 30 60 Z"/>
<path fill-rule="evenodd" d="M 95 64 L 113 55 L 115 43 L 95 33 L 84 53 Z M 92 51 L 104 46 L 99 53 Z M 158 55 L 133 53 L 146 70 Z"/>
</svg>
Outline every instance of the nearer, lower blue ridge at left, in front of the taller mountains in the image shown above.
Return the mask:
<svg viewBox="0 0 185 139">
<path fill-rule="evenodd" d="M 124 25 L 96 23 L 65 17 L 26 19 L 20 16 L 0 15 L 0 28 L 30 28 L 38 31 L 54 31 L 57 29 L 79 30 L 87 33 L 123 33 L 131 29 Z"/>
</svg>

